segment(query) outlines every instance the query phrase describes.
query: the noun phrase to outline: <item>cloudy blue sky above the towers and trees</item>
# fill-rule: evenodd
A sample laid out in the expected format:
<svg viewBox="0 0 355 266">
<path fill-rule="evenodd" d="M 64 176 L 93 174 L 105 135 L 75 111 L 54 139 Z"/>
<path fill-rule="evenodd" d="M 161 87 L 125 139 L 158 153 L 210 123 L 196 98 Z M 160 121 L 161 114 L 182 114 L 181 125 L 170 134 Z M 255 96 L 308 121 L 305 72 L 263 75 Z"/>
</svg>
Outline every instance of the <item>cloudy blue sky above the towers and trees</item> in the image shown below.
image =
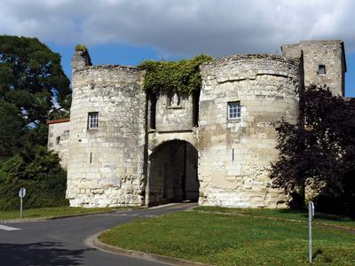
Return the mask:
<svg viewBox="0 0 355 266">
<path fill-rule="evenodd" d="M 353 0 L 0 0 L 0 35 L 37 37 L 70 77 L 75 44 L 93 64 L 278 53 L 302 40 L 340 39 L 345 95 L 355 97 Z"/>
</svg>

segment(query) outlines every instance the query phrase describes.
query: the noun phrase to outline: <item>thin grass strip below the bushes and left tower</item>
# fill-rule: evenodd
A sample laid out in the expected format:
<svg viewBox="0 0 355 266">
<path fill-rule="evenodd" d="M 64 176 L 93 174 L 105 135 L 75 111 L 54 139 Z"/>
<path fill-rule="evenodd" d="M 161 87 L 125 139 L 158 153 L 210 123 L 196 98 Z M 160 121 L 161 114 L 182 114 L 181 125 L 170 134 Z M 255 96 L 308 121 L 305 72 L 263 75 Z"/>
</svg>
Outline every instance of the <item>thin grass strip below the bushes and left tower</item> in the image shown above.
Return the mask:
<svg viewBox="0 0 355 266">
<path fill-rule="evenodd" d="M 127 208 L 127 207 L 126 207 Z M 44 218 L 57 217 L 67 215 L 79 215 L 114 211 L 118 207 L 40 207 L 25 209 L 23 211 L 23 218 Z M 20 210 L 18 211 L 1 211 L 0 220 L 20 219 Z"/>
</svg>

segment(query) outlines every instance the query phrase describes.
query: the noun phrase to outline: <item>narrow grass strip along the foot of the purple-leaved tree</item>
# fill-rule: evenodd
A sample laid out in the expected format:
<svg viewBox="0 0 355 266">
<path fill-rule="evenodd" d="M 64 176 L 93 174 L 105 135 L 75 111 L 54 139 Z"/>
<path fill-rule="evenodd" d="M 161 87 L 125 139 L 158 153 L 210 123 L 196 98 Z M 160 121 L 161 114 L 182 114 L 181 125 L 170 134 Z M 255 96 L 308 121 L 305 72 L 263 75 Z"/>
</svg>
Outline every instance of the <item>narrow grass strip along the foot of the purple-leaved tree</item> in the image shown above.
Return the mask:
<svg viewBox="0 0 355 266">
<path fill-rule="evenodd" d="M 195 207 L 193 211 L 216 212 L 230 215 L 252 215 L 280 219 L 308 221 L 308 212 L 300 209 L 271 209 L 271 208 L 233 208 L 233 207 Z M 317 213 L 313 223 L 326 223 L 333 226 L 347 227 L 355 230 L 355 219 L 344 215 L 328 215 Z"/>
</svg>

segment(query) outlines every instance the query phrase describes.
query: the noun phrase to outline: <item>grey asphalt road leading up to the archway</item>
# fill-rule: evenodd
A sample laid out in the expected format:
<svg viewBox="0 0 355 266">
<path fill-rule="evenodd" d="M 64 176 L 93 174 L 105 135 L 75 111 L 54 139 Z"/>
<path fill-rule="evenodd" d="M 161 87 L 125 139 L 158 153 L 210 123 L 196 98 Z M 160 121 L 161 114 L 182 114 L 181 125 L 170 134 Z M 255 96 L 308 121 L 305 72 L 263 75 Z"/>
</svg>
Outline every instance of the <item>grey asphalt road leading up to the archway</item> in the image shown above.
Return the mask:
<svg viewBox="0 0 355 266">
<path fill-rule="evenodd" d="M 45 222 L 0 224 L 0 265 L 166 265 L 109 254 L 83 242 L 117 224 L 185 210 L 193 205 L 181 203 Z"/>
</svg>

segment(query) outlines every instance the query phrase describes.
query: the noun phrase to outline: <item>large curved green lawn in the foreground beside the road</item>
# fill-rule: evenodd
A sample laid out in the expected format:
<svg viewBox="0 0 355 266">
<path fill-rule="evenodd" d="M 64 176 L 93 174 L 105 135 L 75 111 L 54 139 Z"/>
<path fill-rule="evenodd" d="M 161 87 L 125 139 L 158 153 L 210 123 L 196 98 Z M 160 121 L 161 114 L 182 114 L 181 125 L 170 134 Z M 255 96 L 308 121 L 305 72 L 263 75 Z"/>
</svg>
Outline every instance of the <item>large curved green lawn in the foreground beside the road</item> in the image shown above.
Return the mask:
<svg viewBox="0 0 355 266">
<path fill-rule="evenodd" d="M 216 265 L 308 263 L 308 225 L 252 216 L 181 212 L 104 232 L 109 245 Z M 354 265 L 355 235 L 313 225 L 314 264 Z"/>
</svg>

